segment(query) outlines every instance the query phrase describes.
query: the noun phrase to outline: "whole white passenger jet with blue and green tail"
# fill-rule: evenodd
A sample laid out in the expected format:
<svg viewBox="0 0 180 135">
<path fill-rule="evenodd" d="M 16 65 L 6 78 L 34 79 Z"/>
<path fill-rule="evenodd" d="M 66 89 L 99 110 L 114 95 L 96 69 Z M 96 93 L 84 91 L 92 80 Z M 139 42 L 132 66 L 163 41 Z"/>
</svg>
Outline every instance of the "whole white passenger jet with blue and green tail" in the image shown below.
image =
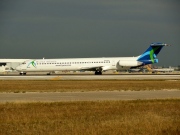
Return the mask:
<svg viewBox="0 0 180 135">
<path fill-rule="evenodd" d="M 137 57 L 104 57 L 104 58 L 71 58 L 71 59 L 36 59 L 23 62 L 16 70 L 20 75 L 27 72 L 54 71 L 94 71 L 95 75 L 101 75 L 107 70 L 124 70 L 147 64 L 158 63 L 156 56 L 160 50 L 168 46 L 164 43 L 152 43 L 150 47 Z"/>
</svg>

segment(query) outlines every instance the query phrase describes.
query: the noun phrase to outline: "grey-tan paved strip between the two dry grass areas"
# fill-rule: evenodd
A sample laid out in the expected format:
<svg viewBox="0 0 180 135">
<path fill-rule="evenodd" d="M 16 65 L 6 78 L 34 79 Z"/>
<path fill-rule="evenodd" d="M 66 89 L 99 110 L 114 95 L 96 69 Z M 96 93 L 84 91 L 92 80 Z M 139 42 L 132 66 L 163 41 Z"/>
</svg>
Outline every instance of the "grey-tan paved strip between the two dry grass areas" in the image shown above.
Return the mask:
<svg viewBox="0 0 180 135">
<path fill-rule="evenodd" d="M 101 100 L 144 100 L 180 98 L 179 90 L 113 91 L 113 92 L 48 92 L 0 93 L 0 103 L 6 102 L 64 102 Z"/>
</svg>

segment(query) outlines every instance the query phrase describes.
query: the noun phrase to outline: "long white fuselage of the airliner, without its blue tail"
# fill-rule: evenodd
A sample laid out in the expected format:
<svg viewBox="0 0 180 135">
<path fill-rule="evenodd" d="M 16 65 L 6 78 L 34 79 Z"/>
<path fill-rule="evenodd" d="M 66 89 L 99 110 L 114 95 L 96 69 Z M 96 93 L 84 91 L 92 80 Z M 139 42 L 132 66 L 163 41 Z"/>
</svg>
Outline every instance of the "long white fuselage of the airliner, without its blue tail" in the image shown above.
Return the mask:
<svg viewBox="0 0 180 135">
<path fill-rule="evenodd" d="M 127 62 L 128 61 L 128 62 Z M 73 59 L 37 59 L 26 61 L 18 67 L 22 72 L 35 71 L 96 71 L 101 70 L 121 70 L 129 69 L 130 67 L 139 66 L 142 63 L 137 61 L 137 57 L 112 57 L 112 58 L 73 58 Z"/>
</svg>

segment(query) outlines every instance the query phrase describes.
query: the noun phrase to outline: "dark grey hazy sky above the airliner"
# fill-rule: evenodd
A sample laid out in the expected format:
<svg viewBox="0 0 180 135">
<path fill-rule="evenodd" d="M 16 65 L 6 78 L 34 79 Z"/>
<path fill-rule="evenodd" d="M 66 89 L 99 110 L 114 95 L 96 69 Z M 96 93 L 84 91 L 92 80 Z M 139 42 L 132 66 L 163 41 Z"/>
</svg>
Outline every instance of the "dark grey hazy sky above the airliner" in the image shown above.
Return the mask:
<svg viewBox="0 0 180 135">
<path fill-rule="evenodd" d="M 1 0 L 0 58 L 124 57 L 164 42 L 180 65 L 180 0 Z"/>
</svg>

